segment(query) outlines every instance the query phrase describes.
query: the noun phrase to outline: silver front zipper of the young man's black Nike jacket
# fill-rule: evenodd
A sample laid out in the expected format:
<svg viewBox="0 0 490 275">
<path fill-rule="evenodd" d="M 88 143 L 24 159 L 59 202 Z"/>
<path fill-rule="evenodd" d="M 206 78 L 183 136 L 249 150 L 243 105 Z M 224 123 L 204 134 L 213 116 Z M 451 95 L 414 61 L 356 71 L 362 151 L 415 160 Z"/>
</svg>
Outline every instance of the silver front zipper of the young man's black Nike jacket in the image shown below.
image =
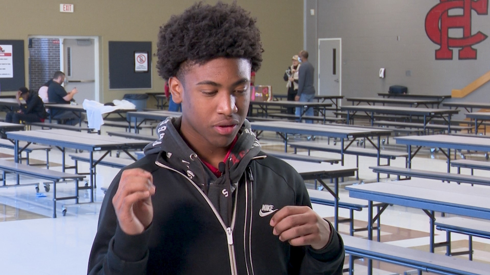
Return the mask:
<svg viewBox="0 0 490 275">
<path fill-rule="evenodd" d="M 230 258 L 231 274 L 237 275 L 238 271 L 237 271 L 237 262 L 235 259 L 235 247 L 233 245 L 233 229 L 235 228 L 235 219 L 236 219 L 236 213 L 237 213 L 238 188 L 236 189 L 236 194 L 235 194 L 235 208 L 233 209 L 233 217 L 232 217 L 232 221 L 231 221 L 231 228 L 226 227 L 226 225 L 223 222 L 223 219 L 221 219 L 220 213 L 218 213 L 218 210 L 216 210 L 216 207 L 213 206 L 213 203 L 211 203 L 209 198 L 202 192 L 201 188 L 199 188 L 199 186 L 197 186 L 197 184 L 193 180 L 191 180 L 186 175 L 182 174 L 180 171 L 177 171 L 177 170 L 173 169 L 172 167 L 169 167 L 165 164 L 160 163 L 158 160 L 155 161 L 155 164 L 162 167 L 162 168 L 177 172 L 180 175 L 182 175 L 182 177 L 186 178 L 190 183 L 192 183 L 192 185 L 194 185 L 194 187 L 197 189 L 197 191 L 199 191 L 201 196 L 206 200 L 209 207 L 211 207 L 211 210 L 213 210 L 213 213 L 215 214 L 216 218 L 220 222 L 221 227 L 224 229 L 224 232 L 226 233 L 226 241 L 228 243 L 228 255 Z"/>
</svg>

